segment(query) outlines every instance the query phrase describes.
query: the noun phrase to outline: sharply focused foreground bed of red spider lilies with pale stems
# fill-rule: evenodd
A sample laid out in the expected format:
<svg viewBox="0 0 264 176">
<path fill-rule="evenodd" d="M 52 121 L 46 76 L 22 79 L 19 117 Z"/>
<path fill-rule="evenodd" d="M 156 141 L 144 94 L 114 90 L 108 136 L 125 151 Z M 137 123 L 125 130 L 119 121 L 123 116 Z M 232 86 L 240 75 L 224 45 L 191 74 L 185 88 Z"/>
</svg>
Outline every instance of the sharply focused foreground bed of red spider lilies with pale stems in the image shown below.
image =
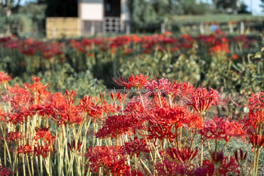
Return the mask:
<svg viewBox="0 0 264 176">
<path fill-rule="evenodd" d="M 209 116 L 212 106 L 225 106 L 225 100 L 214 89 L 187 82 L 120 76 L 113 78 L 118 86 L 163 92 L 138 92 L 130 102 L 126 94 L 111 93 L 113 103 L 100 93 L 77 103 L 73 90 L 48 92 L 36 77 L 10 87 L 10 76 L 0 75 L 6 80 L 1 82 L 0 175 L 257 175 L 264 146 L 262 92 L 252 93 L 249 112 L 234 120 Z M 246 152 L 224 155 L 236 138 L 252 145 L 248 173 Z"/>
</svg>

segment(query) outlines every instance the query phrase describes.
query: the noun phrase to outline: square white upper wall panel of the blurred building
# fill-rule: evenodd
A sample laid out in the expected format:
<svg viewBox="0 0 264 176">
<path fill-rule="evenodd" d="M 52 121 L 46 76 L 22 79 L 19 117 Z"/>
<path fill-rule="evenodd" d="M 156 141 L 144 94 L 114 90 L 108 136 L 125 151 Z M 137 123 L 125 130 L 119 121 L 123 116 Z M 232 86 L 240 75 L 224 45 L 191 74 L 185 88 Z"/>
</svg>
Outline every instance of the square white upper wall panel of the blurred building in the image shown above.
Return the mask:
<svg viewBox="0 0 264 176">
<path fill-rule="evenodd" d="M 103 0 L 81 0 L 78 3 L 81 20 L 103 20 Z"/>
</svg>

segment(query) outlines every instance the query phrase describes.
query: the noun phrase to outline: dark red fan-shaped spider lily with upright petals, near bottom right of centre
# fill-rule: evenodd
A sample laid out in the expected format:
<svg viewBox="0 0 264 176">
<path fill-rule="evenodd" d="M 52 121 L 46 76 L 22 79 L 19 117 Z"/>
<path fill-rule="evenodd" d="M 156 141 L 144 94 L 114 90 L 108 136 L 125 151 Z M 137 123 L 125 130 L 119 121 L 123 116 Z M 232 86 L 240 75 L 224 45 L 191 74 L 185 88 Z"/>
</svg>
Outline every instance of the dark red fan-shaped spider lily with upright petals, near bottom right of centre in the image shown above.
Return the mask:
<svg viewBox="0 0 264 176">
<path fill-rule="evenodd" d="M 180 161 L 182 164 L 187 165 L 189 160 L 194 159 L 198 150 L 193 151 L 191 148 L 183 148 L 182 150 L 177 148 L 169 148 L 167 154 L 173 160 Z"/>
</svg>

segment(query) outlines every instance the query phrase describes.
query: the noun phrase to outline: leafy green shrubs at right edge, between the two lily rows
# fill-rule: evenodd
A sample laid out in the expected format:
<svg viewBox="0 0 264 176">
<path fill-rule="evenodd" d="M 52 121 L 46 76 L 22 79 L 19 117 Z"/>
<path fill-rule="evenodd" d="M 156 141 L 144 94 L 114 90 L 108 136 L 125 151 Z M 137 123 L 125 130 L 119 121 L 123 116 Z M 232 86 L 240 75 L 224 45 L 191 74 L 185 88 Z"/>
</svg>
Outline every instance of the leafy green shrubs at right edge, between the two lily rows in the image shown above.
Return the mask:
<svg viewBox="0 0 264 176">
<path fill-rule="evenodd" d="M 240 96 L 264 90 L 264 48 L 255 54 L 248 54 L 241 61 L 212 59 L 206 74 L 205 84 Z"/>
</svg>

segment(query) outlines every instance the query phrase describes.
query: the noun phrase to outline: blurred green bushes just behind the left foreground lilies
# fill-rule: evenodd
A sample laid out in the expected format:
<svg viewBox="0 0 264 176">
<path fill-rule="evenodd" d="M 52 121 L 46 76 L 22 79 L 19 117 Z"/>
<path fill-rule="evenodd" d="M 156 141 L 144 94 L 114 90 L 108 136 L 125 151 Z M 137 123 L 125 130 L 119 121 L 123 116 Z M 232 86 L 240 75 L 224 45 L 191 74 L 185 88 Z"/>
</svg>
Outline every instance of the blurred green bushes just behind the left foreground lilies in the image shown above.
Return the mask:
<svg viewBox="0 0 264 176">
<path fill-rule="evenodd" d="M 50 92 L 65 92 L 65 89 L 76 91 L 77 98 L 83 95 L 98 96 L 100 91 L 106 89 L 102 81 L 93 77 L 92 73 L 87 70 L 86 72 L 76 73 L 69 64 L 57 65 L 58 71 L 45 71 L 36 74 L 41 78 L 43 84 L 48 83 L 48 90 Z M 10 80 L 9 84 L 14 85 L 18 83 L 23 85 L 23 82 L 30 82 L 31 75 L 23 74 L 22 77 L 15 77 Z"/>
</svg>

